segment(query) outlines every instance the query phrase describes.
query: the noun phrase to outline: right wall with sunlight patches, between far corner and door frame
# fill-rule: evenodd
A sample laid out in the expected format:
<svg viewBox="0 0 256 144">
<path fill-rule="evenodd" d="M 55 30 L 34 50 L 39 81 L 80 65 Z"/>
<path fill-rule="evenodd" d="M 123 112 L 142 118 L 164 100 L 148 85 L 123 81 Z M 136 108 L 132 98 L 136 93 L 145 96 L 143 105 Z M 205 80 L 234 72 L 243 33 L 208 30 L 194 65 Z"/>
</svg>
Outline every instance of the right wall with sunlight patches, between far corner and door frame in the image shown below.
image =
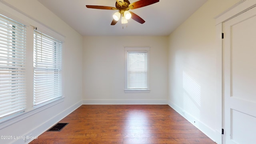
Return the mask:
<svg viewBox="0 0 256 144">
<path fill-rule="evenodd" d="M 208 0 L 169 36 L 169 104 L 220 143 L 215 16 L 240 0 Z M 221 104 L 219 104 L 221 106 Z M 218 128 L 218 129 L 216 129 Z"/>
</svg>

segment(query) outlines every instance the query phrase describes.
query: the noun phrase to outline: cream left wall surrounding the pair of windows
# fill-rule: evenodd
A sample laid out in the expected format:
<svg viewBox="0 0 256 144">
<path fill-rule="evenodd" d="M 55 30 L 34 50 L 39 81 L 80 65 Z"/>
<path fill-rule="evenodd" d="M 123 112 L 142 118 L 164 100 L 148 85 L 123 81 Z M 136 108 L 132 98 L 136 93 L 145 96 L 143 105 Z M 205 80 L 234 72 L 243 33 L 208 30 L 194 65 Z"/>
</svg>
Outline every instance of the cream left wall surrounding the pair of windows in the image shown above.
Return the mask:
<svg viewBox="0 0 256 144">
<path fill-rule="evenodd" d="M 40 112 L 37 111 L 35 114 L 30 112 L 31 116 L 26 118 L 22 115 L 19 117 L 20 121 L 0 129 L 0 136 L 26 136 L 29 134 L 38 136 L 82 104 L 83 38 L 37 0 L 6 0 L 6 2 L 66 37 L 63 44 L 64 101 Z M 20 14 L 2 2 L 0 2 L 0 7 L 0 12 L 11 14 L 36 26 L 36 22 L 28 18 L 28 16 Z M 13 142 L 17 144 L 25 143 L 22 139 L 0 140 L 1 144 Z"/>
</svg>

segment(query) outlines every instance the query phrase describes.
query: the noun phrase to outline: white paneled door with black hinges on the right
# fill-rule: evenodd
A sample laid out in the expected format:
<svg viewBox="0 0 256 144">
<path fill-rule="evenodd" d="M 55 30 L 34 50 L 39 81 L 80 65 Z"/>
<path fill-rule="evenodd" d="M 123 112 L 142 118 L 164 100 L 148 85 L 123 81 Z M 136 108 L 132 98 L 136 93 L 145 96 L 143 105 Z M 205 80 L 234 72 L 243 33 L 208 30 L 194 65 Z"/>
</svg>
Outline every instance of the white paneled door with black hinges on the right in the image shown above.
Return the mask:
<svg viewBox="0 0 256 144">
<path fill-rule="evenodd" d="M 224 144 L 256 144 L 256 7 L 223 26 Z"/>
</svg>

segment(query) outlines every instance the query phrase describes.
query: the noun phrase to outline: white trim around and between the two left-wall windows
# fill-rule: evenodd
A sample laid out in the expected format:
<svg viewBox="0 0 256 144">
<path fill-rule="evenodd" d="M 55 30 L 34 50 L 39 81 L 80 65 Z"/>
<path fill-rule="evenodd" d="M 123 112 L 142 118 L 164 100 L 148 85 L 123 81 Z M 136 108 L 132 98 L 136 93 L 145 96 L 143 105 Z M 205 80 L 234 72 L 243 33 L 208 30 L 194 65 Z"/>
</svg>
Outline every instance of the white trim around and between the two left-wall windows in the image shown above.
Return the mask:
<svg viewBox="0 0 256 144">
<path fill-rule="evenodd" d="M 50 108 L 51 106 L 55 106 L 56 104 L 59 104 L 64 101 L 64 94 L 61 98 L 58 98 L 57 100 L 51 100 L 49 102 L 45 102 L 43 104 L 39 104 L 37 106 L 33 105 L 33 30 L 34 26 L 37 27 L 37 29 L 42 30 L 47 35 L 52 36 L 53 38 L 56 38 L 57 40 L 60 40 L 61 42 L 65 42 L 65 36 L 62 34 L 56 32 L 52 28 L 44 25 L 40 21 L 36 20 L 35 18 L 32 18 L 31 16 L 28 16 L 24 12 L 16 9 L 15 7 L 12 7 L 8 3 L 0 0 L 0 3 L 3 3 L 6 5 L 6 7 L 12 12 L 10 14 L 9 12 L 6 12 L 5 10 L 0 10 L 0 14 L 11 18 L 13 20 L 16 20 L 17 22 L 20 22 L 24 25 L 26 25 L 27 28 L 27 35 L 26 35 L 26 87 L 27 87 L 27 108 L 26 110 L 13 114 L 10 116 L 6 116 L 2 119 L 0 119 L 0 130 L 2 128 L 5 128 L 11 124 L 14 124 L 20 120 L 23 120 L 24 118 L 27 118 L 29 116 L 32 116 L 33 114 L 36 114 L 42 110 L 46 110 Z M 62 46 L 62 49 L 64 48 L 64 44 Z M 31 75 L 31 76 L 30 76 Z"/>
</svg>

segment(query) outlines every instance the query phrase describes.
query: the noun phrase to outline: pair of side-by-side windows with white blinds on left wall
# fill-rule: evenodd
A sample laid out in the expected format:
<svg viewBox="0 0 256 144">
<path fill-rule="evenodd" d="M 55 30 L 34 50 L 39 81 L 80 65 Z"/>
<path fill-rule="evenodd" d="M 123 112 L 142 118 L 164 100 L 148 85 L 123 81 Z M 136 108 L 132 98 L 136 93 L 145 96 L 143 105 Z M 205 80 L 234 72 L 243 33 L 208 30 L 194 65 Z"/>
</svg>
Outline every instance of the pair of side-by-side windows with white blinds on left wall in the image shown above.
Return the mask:
<svg viewBox="0 0 256 144">
<path fill-rule="evenodd" d="M 64 36 L 34 21 L 38 32 L 26 22 L 32 19 L 6 14 L 11 18 L 0 14 L 0 129 L 63 100 Z"/>
</svg>

